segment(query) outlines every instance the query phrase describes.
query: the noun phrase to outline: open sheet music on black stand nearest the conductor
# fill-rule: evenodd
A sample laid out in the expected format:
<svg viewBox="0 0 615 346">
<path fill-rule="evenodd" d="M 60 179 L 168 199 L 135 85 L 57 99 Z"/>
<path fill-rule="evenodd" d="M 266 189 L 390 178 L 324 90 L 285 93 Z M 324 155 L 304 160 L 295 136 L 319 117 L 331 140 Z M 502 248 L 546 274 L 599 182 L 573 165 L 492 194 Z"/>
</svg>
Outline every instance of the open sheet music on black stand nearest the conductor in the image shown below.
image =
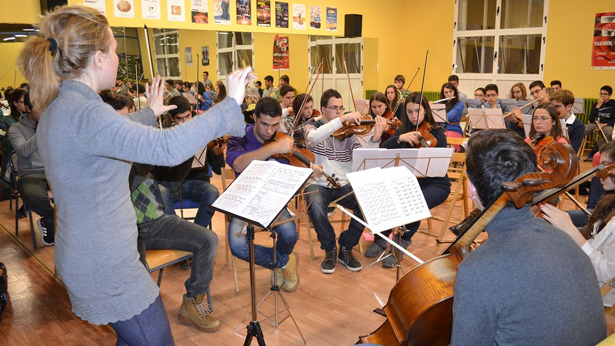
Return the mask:
<svg viewBox="0 0 615 346">
<path fill-rule="evenodd" d="M 311 174 L 310 168 L 255 160 L 212 206 L 266 228 Z"/>
</svg>

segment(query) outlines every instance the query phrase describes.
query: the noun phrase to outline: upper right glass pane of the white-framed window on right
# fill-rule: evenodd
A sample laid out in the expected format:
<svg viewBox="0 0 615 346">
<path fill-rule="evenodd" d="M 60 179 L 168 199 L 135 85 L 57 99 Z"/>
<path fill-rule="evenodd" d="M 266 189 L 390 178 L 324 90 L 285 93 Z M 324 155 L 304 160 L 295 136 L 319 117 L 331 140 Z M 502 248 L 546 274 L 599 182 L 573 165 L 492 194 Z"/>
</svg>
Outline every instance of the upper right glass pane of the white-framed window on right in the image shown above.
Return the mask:
<svg viewBox="0 0 615 346">
<path fill-rule="evenodd" d="M 543 13 L 544 0 L 502 0 L 500 28 L 539 28 Z"/>
</svg>

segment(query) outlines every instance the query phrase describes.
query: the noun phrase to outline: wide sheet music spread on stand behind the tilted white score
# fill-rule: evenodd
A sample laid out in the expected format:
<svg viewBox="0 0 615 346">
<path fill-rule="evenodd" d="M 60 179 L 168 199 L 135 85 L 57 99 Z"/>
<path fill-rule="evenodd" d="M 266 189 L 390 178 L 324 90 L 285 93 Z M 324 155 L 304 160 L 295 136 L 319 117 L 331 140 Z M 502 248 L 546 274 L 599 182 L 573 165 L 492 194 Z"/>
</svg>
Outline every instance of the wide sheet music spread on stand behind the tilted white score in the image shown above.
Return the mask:
<svg viewBox="0 0 615 346">
<path fill-rule="evenodd" d="M 416 177 L 444 177 L 453 148 L 356 148 L 352 151 L 352 171 L 374 167 L 405 166 Z"/>
</svg>

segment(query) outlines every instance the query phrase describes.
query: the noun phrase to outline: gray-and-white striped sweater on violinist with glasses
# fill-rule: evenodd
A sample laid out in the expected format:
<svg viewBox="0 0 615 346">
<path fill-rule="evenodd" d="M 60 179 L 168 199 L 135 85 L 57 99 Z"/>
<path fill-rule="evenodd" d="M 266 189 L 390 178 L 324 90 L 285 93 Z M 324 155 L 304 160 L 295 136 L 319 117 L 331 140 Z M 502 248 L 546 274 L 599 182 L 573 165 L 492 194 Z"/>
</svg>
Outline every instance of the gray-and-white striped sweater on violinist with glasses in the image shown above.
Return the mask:
<svg viewBox="0 0 615 346">
<path fill-rule="evenodd" d="M 346 173 L 352 172 L 352 151 L 355 148 L 362 148 L 356 135 L 350 135 L 343 140 L 336 139 L 331 134 L 342 127 L 339 118 L 335 118 L 328 123 L 322 119 L 315 122 L 306 123 L 304 127 L 304 137 L 306 147 L 314 153 L 315 164 L 322 164 L 323 171 L 328 174 L 335 174 L 339 178 L 340 185 L 346 185 L 348 179 Z M 378 148 L 380 142 L 367 141 L 368 148 Z M 327 186 L 327 179 L 309 180 L 308 185 L 318 184 Z"/>
</svg>

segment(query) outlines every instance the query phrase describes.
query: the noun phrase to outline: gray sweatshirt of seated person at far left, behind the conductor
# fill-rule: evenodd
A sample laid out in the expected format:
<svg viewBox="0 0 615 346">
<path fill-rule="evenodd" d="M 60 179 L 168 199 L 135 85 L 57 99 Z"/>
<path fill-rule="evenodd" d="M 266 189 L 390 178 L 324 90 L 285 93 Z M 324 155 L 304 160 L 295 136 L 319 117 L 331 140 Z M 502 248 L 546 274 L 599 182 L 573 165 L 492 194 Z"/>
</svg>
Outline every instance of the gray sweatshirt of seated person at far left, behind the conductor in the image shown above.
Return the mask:
<svg viewBox="0 0 615 346">
<path fill-rule="evenodd" d="M 36 127 L 30 123 L 27 114 L 20 116 L 19 122 L 9 127 L 9 140 L 17 153 L 17 173 L 20 177 L 45 171 L 36 143 Z"/>
</svg>

